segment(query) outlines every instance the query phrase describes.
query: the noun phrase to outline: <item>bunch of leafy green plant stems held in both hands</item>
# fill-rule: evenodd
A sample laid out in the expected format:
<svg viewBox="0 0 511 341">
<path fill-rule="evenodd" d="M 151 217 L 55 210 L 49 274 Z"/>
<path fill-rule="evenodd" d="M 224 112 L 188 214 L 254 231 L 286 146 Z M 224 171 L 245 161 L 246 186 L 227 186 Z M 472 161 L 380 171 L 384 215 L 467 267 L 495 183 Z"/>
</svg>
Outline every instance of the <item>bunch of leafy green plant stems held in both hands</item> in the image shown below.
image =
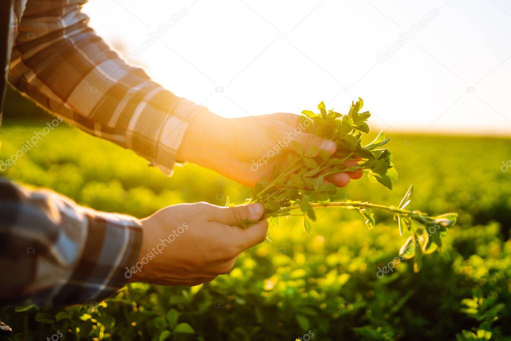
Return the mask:
<svg viewBox="0 0 511 341">
<path fill-rule="evenodd" d="M 362 172 L 391 190 L 392 182 L 398 179 L 392 154 L 385 148 L 389 139 L 385 138 L 383 131 L 374 141 L 362 144 L 363 135 L 369 132 L 367 119 L 371 116 L 369 111 L 361 111 L 363 105 L 359 98 L 352 102 L 349 112 L 344 115 L 333 109 L 327 110 L 323 102 L 318 105 L 319 112 L 302 111 L 299 127 L 305 132 L 334 141 L 337 144 L 336 152 L 329 155 L 315 146 L 304 150 L 293 141 L 293 151 L 288 155 L 286 166 L 275 167 L 271 180 L 263 179 L 257 184 L 250 202 L 264 205 L 271 225 L 278 224 L 278 217 L 281 216 L 303 215 L 304 228 L 308 233 L 311 231 L 311 221 L 316 220 L 315 208 L 335 206 L 358 210 L 369 229 L 375 225 L 374 210 L 390 212 L 398 222 L 400 234 L 410 234 L 401 247 L 400 256 L 414 258 L 414 270 L 419 271 L 423 255 L 442 246 L 441 237 L 447 233 L 448 227 L 455 224 L 456 213 L 430 217 L 420 211 L 406 210 L 413 185 L 397 207 L 362 201 L 334 201 L 337 188 L 325 181 L 328 175 L 339 172 Z M 346 166 L 348 160 L 357 161 L 357 166 Z"/>
</svg>

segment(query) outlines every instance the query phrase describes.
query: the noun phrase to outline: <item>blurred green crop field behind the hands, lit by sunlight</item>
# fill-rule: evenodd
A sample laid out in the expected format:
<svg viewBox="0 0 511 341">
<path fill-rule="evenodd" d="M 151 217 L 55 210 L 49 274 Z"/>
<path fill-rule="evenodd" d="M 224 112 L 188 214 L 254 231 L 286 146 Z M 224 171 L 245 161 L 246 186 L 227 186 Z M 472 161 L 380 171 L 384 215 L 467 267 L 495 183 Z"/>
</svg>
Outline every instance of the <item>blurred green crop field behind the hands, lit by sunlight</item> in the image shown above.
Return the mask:
<svg viewBox="0 0 511 341">
<path fill-rule="evenodd" d="M 0 160 L 51 121 L 6 121 Z M 342 199 L 459 213 L 440 251 L 414 274 L 398 256 L 406 239 L 392 216 L 368 231 L 356 212 L 317 211 L 311 234 L 281 218 L 233 271 L 195 287 L 135 283 L 104 302 L 65 309 L 6 307 L 12 339 L 63 340 L 511 340 L 511 140 L 402 135 L 387 129 L 399 180 L 367 177 Z M 369 141 L 370 137 L 367 139 Z M 509 162 L 511 166 L 511 162 Z M 88 207 L 145 217 L 176 203 L 243 203 L 249 189 L 186 164 L 168 177 L 135 153 L 61 123 L 2 172 Z M 15 274 L 2 274 L 11 276 Z"/>
</svg>

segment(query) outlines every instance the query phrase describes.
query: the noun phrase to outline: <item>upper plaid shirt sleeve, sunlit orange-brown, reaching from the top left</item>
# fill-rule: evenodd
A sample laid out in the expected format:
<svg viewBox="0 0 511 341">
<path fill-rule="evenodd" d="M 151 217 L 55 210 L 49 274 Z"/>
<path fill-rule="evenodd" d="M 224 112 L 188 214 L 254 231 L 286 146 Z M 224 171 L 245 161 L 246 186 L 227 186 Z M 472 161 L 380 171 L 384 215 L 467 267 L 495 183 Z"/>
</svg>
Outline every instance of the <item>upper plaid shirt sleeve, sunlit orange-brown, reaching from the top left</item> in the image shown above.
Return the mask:
<svg viewBox="0 0 511 341">
<path fill-rule="evenodd" d="M 134 150 L 172 174 L 183 135 L 203 106 L 125 63 L 81 12 L 86 0 L 28 0 L 9 81 L 84 131 Z"/>
</svg>

